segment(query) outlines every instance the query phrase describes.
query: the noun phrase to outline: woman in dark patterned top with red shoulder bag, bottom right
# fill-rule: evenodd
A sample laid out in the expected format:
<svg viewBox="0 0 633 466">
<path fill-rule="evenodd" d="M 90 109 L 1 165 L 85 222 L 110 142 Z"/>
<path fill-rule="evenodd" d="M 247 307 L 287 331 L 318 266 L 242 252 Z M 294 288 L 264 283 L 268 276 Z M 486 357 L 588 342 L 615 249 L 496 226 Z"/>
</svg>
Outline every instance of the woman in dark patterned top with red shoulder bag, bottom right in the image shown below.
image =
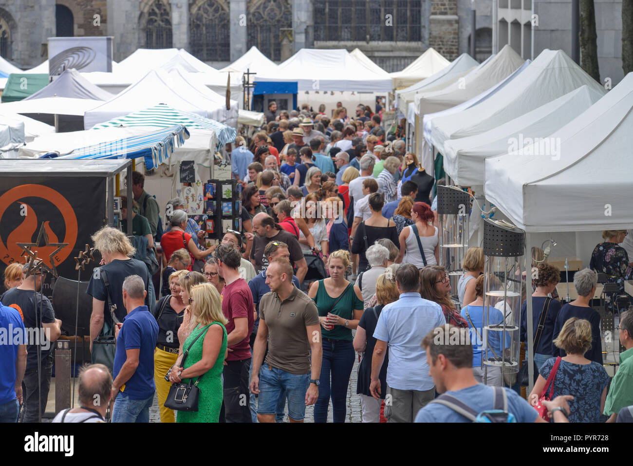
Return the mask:
<svg viewBox="0 0 633 466">
<path fill-rule="evenodd" d="M 528 401 L 534 405 L 534 401 L 539 400 L 549 374 L 558 363 L 550 400 L 560 394 L 573 395 L 573 401 L 569 403 L 569 422 L 599 422 L 600 413 L 605 409 L 609 376 L 603 365 L 584 356 L 591 348 L 591 342 L 589 320 L 577 317 L 567 320 L 554 340 L 556 347 L 563 349 L 567 356 L 549 358 L 541 366 Z"/>
</svg>

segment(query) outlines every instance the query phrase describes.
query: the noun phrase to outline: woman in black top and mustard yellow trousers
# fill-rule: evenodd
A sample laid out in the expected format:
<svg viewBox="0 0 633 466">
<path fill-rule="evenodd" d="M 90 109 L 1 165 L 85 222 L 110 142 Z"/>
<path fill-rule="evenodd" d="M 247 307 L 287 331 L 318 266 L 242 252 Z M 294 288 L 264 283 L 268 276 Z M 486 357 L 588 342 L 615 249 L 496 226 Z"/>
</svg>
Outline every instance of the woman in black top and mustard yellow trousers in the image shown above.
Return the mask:
<svg viewBox="0 0 633 466">
<path fill-rule="evenodd" d="M 181 250 L 184 251 L 184 249 Z M 158 339 L 156 339 L 154 350 L 154 382 L 160 408 L 160 422 L 176 422 L 173 410 L 165 408 L 165 400 L 171 386 L 170 382 L 165 380 L 165 374 L 178 358 L 180 348 L 178 329 L 187 307 L 187 303 L 182 302 L 180 279 L 188 273 L 187 270 L 177 270 L 169 276 L 169 289 L 172 294 L 163 296 L 156 303 L 153 311 L 158 322 Z"/>
</svg>

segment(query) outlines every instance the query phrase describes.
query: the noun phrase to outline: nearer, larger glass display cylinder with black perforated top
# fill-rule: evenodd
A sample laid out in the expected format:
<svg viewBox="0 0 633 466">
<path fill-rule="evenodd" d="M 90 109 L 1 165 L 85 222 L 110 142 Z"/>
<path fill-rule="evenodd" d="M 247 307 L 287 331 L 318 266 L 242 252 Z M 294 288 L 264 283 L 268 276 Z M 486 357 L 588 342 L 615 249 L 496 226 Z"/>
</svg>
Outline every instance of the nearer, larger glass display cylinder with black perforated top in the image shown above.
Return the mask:
<svg viewBox="0 0 633 466">
<path fill-rule="evenodd" d="M 521 304 L 525 296 L 525 232 L 504 221 L 484 219 L 484 308 L 482 369 L 501 368 L 512 385 L 519 366 Z"/>
</svg>

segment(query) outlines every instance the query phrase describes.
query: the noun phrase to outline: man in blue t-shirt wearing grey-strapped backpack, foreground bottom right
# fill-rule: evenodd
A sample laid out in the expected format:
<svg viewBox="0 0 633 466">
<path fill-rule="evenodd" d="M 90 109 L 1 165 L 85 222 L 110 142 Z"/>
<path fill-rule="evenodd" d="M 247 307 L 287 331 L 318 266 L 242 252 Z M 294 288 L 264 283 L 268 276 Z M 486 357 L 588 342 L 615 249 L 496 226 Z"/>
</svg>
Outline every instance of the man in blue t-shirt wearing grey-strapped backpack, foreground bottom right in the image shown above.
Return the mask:
<svg viewBox="0 0 633 466">
<path fill-rule="evenodd" d="M 415 422 L 546 422 L 515 391 L 477 383 L 468 329 L 449 324 L 436 327 L 424 337 L 422 348 L 429 374 L 442 395 L 425 405 Z M 568 422 L 567 400 L 573 396 L 544 401 L 554 422 Z M 486 413 L 491 410 L 498 412 Z"/>
</svg>

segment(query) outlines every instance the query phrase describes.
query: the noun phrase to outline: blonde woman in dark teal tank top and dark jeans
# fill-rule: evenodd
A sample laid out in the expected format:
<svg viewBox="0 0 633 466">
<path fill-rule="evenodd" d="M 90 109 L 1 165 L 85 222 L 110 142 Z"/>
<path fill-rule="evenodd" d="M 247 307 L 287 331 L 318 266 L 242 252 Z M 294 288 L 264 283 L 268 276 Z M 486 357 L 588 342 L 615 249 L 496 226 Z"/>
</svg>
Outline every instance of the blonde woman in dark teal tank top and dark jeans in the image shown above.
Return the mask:
<svg viewBox="0 0 633 466">
<path fill-rule="evenodd" d="M 352 329 L 356 328 L 363 315 L 360 288 L 345 279 L 349 263 L 349 251 L 334 251 L 328 260 L 330 277 L 314 282 L 308 293 L 318 308 L 318 320 L 322 327 L 323 356 L 315 422 L 327 420 L 330 395 L 334 422 L 345 422 L 349 375 L 356 355 Z"/>
</svg>

